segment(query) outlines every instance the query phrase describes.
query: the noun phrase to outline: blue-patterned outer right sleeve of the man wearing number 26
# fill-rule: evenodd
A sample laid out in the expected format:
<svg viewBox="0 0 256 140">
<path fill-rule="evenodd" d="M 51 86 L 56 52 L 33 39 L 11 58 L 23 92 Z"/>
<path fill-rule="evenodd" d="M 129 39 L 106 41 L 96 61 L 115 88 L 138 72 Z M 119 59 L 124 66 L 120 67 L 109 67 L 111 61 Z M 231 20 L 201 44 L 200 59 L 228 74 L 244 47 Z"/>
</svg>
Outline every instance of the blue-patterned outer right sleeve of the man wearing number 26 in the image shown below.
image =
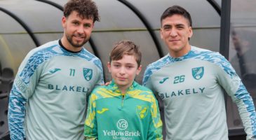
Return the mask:
<svg viewBox="0 0 256 140">
<path fill-rule="evenodd" d="M 227 59 L 220 56 L 220 61 L 215 63 L 221 68 L 217 73 L 217 80 L 238 106 L 247 139 L 256 139 L 256 113 L 252 97 Z"/>
</svg>

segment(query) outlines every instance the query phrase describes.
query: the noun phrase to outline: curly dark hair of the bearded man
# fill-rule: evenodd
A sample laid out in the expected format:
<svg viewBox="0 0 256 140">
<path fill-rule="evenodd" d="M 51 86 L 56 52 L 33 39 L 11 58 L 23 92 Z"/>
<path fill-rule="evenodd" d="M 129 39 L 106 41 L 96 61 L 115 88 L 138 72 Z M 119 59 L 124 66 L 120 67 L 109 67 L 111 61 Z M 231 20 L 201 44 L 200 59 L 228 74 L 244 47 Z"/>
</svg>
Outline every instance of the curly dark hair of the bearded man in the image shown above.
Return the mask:
<svg viewBox="0 0 256 140">
<path fill-rule="evenodd" d="M 79 13 L 81 18 L 92 18 L 93 22 L 100 21 L 97 6 L 91 0 L 69 0 L 64 6 L 64 16 L 67 18 L 73 11 Z"/>
</svg>

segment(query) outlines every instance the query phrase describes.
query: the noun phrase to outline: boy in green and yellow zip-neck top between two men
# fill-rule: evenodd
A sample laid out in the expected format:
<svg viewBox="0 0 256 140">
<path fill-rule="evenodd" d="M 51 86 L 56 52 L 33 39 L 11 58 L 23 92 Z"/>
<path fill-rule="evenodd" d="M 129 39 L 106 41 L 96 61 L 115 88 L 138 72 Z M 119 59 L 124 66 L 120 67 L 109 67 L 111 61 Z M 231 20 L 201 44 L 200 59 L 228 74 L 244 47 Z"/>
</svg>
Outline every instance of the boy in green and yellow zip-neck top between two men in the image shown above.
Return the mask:
<svg viewBox="0 0 256 140">
<path fill-rule="evenodd" d="M 156 98 L 134 81 L 142 69 L 137 45 L 120 41 L 109 58 L 112 83 L 95 88 L 90 95 L 86 139 L 162 139 Z"/>
</svg>

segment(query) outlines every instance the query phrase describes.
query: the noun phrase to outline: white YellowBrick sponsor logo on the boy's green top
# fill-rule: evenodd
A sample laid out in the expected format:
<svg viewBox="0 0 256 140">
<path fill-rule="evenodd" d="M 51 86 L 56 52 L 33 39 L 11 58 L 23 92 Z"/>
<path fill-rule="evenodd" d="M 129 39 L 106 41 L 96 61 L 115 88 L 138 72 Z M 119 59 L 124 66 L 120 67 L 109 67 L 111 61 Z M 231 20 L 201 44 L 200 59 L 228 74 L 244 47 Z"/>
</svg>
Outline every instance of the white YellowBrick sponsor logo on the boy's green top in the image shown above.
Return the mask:
<svg viewBox="0 0 256 140">
<path fill-rule="evenodd" d="M 112 139 L 125 139 L 132 140 L 134 137 L 140 137 L 139 131 L 128 131 L 128 121 L 121 118 L 116 122 L 116 127 L 119 131 L 116 130 L 103 130 L 105 137 L 112 137 Z M 137 138 L 136 138 L 137 139 Z"/>
</svg>

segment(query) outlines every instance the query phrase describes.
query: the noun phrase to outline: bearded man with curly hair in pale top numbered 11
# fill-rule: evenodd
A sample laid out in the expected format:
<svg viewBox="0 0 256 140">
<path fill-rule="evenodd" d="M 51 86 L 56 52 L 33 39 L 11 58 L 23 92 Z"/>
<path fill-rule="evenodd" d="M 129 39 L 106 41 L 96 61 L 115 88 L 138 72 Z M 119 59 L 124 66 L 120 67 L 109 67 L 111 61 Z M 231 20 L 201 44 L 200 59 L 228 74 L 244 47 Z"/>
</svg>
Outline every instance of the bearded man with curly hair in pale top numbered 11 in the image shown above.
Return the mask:
<svg viewBox="0 0 256 140">
<path fill-rule="evenodd" d="M 11 139 L 83 139 L 86 96 L 103 84 L 100 59 L 83 48 L 95 21 L 93 1 L 68 1 L 62 38 L 25 57 L 10 94 Z"/>
</svg>

